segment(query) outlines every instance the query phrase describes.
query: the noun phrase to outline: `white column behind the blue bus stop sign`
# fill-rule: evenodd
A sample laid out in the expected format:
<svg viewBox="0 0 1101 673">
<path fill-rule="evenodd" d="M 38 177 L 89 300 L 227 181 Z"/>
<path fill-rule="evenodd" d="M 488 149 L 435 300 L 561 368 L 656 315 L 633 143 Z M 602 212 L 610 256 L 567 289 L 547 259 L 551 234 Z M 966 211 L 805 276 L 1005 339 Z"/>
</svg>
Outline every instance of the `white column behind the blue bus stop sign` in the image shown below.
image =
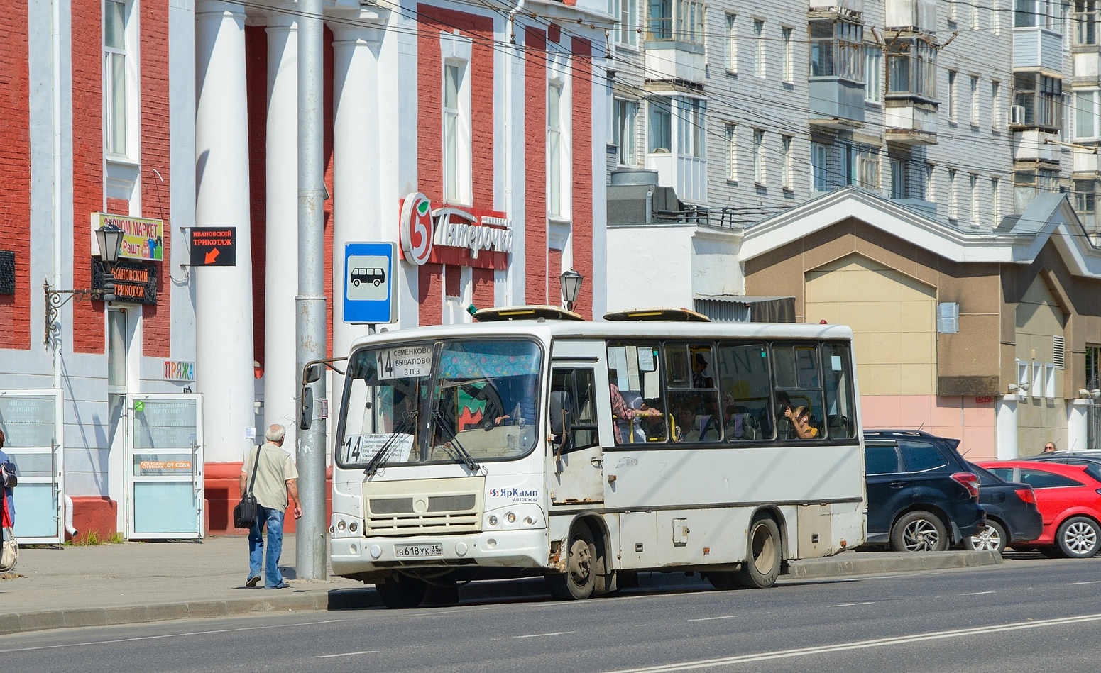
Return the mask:
<svg viewBox="0 0 1101 673">
<path fill-rule="evenodd" d="M 333 26 L 333 355 L 348 354 L 366 324 L 344 321 L 345 244 L 392 241 L 397 202 L 390 209 L 393 232 L 383 231 L 380 208 L 379 29 Z M 399 276 L 400 277 L 400 276 Z M 394 297 L 397 297 L 395 288 Z M 344 378 L 333 376 L 333 409 L 339 408 Z"/>
</svg>

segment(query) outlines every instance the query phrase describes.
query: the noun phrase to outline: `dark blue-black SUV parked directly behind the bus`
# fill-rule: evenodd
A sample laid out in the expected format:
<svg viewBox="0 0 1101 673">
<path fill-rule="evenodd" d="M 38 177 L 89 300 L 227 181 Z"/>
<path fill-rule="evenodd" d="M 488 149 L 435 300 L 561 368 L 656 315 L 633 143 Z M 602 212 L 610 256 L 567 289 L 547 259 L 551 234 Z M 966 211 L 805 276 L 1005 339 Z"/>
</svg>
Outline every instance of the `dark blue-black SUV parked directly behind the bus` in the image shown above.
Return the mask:
<svg viewBox="0 0 1101 673">
<path fill-rule="evenodd" d="M 979 532 L 979 477 L 958 445 L 928 432 L 864 431 L 869 544 L 940 551 Z"/>
</svg>

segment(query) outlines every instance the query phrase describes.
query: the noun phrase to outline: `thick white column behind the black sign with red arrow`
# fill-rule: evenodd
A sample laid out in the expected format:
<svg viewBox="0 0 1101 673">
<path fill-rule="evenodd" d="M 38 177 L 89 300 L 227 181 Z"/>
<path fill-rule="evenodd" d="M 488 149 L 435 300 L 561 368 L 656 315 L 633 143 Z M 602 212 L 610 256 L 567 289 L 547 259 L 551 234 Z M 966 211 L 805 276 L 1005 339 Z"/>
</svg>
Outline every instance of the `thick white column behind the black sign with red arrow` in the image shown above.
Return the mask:
<svg viewBox="0 0 1101 673">
<path fill-rule="evenodd" d="M 241 460 L 255 422 L 244 9 L 200 0 L 195 23 L 195 225 L 237 229 L 236 266 L 192 268 L 206 461 L 226 463 Z"/>
</svg>

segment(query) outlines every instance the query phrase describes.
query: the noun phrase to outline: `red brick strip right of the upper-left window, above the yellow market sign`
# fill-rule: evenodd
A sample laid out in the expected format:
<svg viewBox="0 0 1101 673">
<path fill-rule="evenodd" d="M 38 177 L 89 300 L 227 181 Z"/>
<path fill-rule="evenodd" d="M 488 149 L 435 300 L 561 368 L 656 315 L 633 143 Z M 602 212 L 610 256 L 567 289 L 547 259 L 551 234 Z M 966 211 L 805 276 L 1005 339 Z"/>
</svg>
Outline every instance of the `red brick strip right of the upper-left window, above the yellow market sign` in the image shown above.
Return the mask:
<svg viewBox="0 0 1101 673">
<path fill-rule="evenodd" d="M 137 5 L 135 5 L 137 7 Z M 142 353 L 172 356 L 172 236 L 168 124 L 168 2 L 141 3 L 141 195 L 142 216 L 165 222 L 163 262 L 156 275 L 156 306 L 142 307 Z M 156 173 L 154 173 L 154 169 Z M 157 178 L 157 173 L 161 177 Z M 163 181 L 162 181 L 163 180 Z"/>
</svg>

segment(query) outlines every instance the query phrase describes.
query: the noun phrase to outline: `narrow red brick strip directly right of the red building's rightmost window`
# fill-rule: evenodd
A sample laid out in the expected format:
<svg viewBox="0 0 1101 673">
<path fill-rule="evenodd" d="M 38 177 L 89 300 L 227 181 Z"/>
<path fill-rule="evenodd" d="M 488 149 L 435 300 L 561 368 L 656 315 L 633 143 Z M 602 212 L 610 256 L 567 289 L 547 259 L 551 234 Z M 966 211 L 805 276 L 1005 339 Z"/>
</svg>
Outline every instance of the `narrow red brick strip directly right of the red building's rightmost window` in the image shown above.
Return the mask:
<svg viewBox="0 0 1101 673">
<path fill-rule="evenodd" d="M 574 271 L 585 276 L 574 310 L 592 318 L 592 45 L 574 38 Z M 555 273 L 555 268 L 550 269 Z"/>
</svg>

